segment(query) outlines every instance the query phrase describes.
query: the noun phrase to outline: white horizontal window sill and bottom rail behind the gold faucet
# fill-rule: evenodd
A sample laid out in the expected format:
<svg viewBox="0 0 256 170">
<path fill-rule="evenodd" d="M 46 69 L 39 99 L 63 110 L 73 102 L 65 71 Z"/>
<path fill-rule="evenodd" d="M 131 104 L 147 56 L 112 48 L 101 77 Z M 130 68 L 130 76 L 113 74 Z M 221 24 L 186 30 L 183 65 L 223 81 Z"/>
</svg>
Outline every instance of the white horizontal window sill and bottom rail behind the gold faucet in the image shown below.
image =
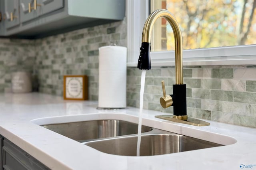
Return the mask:
<svg viewBox="0 0 256 170">
<path fill-rule="evenodd" d="M 241 45 L 183 50 L 183 65 L 255 65 L 255 48 L 256 45 Z M 153 67 L 175 65 L 174 51 L 151 52 L 151 59 Z M 128 62 L 127 66 L 136 67 L 137 60 L 138 57 L 134 59 L 134 63 Z"/>
</svg>

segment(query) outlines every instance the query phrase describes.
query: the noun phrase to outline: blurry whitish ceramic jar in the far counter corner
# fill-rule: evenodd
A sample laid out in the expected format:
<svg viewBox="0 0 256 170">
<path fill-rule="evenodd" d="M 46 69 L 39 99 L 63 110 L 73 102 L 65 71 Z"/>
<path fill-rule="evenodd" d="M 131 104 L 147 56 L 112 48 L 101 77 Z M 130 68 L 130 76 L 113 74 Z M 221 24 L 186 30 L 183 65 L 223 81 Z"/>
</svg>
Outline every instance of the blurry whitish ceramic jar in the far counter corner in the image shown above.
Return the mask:
<svg viewBox="0 0 256 170">
<path fill-rule="evenodd" d="M 12 73 L 12 93 L 29 93 L 32 91 L 31 74 L 25 71 Z"/>
</svg>

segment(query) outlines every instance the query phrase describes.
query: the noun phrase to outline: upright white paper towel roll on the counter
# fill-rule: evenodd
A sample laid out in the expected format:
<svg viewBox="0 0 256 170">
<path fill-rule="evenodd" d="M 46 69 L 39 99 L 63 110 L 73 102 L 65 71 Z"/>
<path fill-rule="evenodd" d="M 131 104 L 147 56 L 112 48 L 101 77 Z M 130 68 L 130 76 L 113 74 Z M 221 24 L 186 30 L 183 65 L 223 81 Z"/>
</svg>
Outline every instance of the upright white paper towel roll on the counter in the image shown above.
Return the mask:
<svg viewBox="0 0 256 170">
<path fill-rule="evenodd" d="M 99 108 L 126 107 L 126 47 L 99 48 Z"/>
</svg>

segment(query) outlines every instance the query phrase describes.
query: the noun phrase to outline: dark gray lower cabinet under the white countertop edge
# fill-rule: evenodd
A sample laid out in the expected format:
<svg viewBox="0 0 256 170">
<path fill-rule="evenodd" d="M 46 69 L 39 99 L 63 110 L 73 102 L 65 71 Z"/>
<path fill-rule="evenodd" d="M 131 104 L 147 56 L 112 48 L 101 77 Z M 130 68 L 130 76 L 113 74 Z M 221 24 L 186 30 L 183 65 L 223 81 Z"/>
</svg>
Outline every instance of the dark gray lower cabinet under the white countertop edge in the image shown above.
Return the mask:
<svg viewBox="0 0 256 170">
<path fill-rule="evenodd" d="M 50 170 L 30 154 L 0 136 L 0 170 Z"/>
</svg>

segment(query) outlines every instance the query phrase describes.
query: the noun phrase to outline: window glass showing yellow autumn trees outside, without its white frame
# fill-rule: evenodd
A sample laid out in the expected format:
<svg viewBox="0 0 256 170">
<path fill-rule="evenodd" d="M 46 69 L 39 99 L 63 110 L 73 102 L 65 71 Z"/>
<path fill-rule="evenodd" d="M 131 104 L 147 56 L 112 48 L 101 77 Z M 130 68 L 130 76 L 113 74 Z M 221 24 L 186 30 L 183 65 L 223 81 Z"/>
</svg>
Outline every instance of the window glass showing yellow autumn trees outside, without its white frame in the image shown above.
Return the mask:
<svg viewBox="0 0 256 170">
<path fill-rule="evenodd" d="M 256 0 L 151 0 L 151 12 L 167 9 L 180 24 L 183 49 L 256 44 Z M 154 26 L 152 51 L 174 50 L 166 20 Z"/>
</svg>

